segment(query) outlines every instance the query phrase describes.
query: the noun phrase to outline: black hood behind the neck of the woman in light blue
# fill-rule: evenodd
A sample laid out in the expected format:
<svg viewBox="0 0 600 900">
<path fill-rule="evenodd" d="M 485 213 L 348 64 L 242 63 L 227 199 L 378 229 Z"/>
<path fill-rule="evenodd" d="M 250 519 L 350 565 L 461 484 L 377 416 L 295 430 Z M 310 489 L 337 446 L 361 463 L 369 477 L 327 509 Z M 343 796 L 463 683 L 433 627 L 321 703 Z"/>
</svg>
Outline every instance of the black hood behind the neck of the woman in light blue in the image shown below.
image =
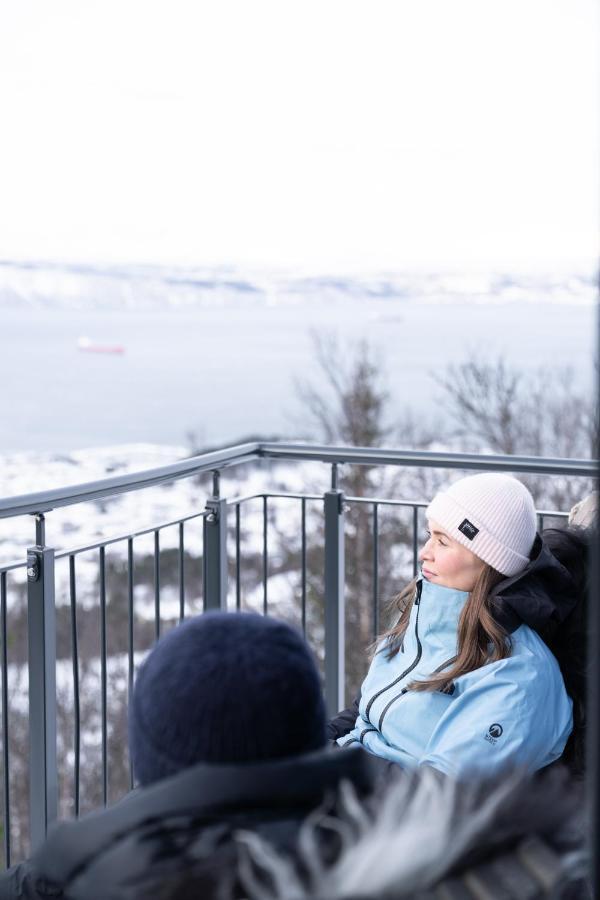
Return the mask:
<svg viewBox="0 0 600 900">
<path fill-rule="evenodd" d="M 542 631 L 564 622 L 580 596 L 579 573 L 563 565 L 538 534 L 525 569 L 492 591 L 492 613 L 509 634 L 522 624 Z"/>
</svg>

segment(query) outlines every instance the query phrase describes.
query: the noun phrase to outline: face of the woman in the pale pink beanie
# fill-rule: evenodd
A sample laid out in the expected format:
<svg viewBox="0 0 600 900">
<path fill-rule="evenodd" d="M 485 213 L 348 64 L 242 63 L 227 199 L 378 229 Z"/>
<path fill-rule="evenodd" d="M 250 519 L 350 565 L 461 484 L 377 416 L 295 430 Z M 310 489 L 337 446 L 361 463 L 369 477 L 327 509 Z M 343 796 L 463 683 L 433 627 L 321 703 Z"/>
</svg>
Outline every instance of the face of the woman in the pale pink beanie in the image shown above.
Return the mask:
<svg viewBox="0 0 600 900">
<path fill-rule="evenodd" d="M 485 563 L 446 534 L 437 522 L 429 519 L 428 524 L 429 539 L 419 553 L 423 575 L 433 584 L 472 591 Z"/>
</svg>

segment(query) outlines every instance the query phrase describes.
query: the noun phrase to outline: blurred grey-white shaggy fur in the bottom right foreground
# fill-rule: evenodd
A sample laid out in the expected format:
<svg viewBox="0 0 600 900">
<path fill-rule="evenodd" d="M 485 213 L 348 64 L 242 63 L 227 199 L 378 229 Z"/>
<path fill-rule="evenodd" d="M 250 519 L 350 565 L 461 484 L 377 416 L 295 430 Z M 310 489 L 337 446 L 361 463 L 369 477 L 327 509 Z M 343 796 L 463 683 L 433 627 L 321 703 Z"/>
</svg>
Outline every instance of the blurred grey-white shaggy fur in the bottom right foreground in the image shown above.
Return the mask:
<svg viewBox="0 0 600 900">
<path fill-rule="evenodd" d="M 591 897 L 579 799 L 564 770 L 461 783 L 427 767 L 403 773 L 375 809 L 343 787 L 340 820 L 313 814 L 300 833 L 302 872 L 240 834 L 250 900 L 539 900 Z M 342 851 L 321 862 L 319 832 Z"/>
</svg>

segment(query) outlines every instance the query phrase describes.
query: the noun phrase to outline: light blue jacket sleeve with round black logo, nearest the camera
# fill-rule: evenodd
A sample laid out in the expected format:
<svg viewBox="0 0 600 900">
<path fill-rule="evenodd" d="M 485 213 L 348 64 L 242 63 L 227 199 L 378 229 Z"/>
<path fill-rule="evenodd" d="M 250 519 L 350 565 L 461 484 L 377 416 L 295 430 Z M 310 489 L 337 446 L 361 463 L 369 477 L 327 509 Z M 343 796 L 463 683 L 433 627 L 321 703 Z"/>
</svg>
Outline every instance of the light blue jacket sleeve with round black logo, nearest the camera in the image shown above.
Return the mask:
<svg viewBox="0 0 600 900">
<path fill-rule="evenodd" d="M 509 657 L 465 686 L 438 721 L 420 765 L 462 777 L 534 771 L 562 753 L 573 724 L 560 676 Z"/>
</svg>

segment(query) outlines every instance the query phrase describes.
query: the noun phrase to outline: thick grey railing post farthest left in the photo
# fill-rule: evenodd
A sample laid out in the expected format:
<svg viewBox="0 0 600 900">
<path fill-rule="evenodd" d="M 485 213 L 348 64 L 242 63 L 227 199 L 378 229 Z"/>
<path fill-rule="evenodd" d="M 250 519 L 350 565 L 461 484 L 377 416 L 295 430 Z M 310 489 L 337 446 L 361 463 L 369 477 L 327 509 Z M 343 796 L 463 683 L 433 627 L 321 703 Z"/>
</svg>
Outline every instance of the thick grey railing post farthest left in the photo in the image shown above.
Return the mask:
<svg viewBox="0 0 600 900">
<path fill-rule="evenodd" d="M 27 550 L 29 642 L 29 815 L 31 849 L 43 843 L 58 814 L 56 763 L 56 612 L 54 550 L 36 515 L 35 547 Z"/>
</svg>

